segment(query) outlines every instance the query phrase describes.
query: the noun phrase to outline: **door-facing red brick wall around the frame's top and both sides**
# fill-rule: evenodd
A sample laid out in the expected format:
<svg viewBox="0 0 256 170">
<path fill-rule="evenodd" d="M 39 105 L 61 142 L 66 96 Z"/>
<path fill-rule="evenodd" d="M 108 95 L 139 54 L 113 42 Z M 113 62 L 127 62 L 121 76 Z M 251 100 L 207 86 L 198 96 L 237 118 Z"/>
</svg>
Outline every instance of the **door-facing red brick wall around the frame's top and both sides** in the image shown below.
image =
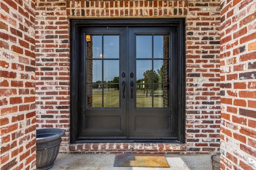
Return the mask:
<svg viewBox="0 0 256 170">
<path fill-rule="evenodd" d="M 219 0 L 36 3 L 36 109 L 38 127 L 66 130 L 68 150 L 68 18 L 186 17 L 186 143 L 189 151 L 218 152 L 220 124 Z"/>
</svg>

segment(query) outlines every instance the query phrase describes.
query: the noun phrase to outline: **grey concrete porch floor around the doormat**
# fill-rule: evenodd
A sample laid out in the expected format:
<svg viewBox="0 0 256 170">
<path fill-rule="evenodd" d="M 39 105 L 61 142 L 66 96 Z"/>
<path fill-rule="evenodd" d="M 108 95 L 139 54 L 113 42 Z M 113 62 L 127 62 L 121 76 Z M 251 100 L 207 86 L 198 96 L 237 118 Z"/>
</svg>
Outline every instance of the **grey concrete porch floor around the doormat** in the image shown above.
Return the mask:
<svg viewBox="0 0 256 170">
<path fill-rule="evenodd" d="M 60 153 L 50 170 L 212 170 L 211 154 L 165 154 L 170 168 L 113 167 L 115 154 Z"/>
</svg>

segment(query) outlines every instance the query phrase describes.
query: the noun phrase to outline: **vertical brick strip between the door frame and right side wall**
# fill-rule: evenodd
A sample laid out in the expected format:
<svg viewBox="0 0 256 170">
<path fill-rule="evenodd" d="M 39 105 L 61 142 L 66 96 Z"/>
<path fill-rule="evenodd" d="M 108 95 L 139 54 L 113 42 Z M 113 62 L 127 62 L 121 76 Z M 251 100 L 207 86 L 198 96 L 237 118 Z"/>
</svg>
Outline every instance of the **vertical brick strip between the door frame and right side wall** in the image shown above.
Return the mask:
<svg viewBox="0 0 256 170">
<path fill-rule="evenodd" d="M 220 141 L 220 2 L 188 1 L 186 18 L 186 142 L 190 151 L 218 152 Z"/>
</svg>

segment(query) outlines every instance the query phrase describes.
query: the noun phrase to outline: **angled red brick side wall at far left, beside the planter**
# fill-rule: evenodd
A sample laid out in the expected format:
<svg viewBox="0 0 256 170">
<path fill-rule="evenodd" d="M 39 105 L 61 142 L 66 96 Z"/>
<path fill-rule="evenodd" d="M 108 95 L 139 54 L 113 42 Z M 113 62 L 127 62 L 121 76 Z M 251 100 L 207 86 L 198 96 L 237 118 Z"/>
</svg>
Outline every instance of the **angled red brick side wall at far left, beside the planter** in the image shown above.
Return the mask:
<svg viewBox="0 0 256 170">
<path fill-rule="evenodd" d="M 35 0 L 0 1 L 0 169 L 35 169 Z"/>
</svg>

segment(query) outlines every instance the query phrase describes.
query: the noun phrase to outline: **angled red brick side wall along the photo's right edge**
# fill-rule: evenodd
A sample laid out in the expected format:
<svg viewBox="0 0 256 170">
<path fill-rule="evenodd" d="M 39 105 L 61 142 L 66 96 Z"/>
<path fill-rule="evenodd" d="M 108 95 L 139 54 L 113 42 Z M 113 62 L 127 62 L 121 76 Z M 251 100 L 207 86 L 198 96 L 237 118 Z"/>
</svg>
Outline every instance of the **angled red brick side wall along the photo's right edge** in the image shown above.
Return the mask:
<svg viewBox="0 0 256 170">
<path fill-rule="evenodd" d="M 256 2 L 222 0 L 221 165 L 256 168 Z"/>
</svg>

